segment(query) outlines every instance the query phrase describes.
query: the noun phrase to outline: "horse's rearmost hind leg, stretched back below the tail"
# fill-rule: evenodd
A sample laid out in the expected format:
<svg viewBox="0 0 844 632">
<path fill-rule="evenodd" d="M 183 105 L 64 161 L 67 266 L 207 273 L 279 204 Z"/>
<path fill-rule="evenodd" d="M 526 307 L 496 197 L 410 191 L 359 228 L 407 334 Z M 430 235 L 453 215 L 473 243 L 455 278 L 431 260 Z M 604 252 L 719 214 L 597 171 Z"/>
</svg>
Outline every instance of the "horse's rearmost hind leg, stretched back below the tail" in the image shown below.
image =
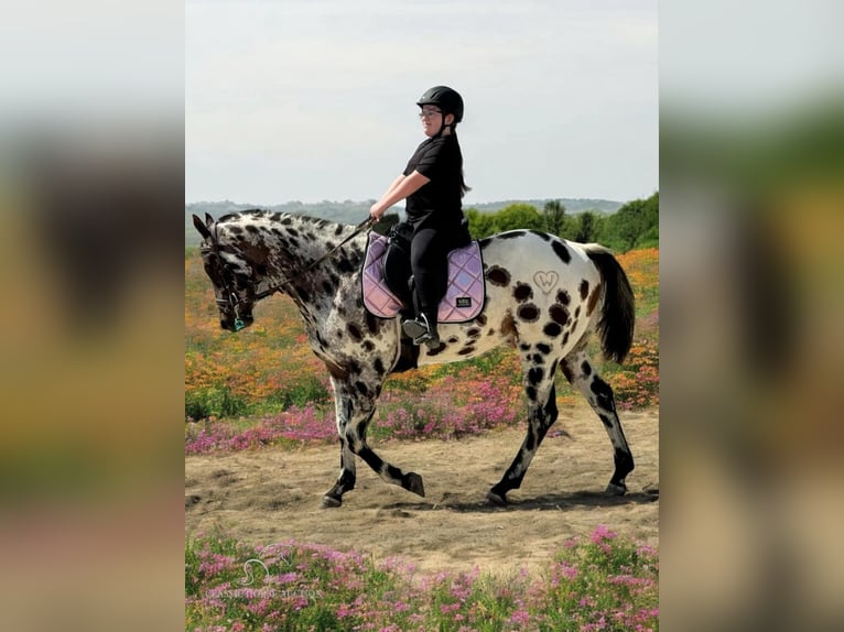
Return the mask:
<svg viewBox="0 0 844 632">
<path fill-rule="evenodd" d="M 600 379 L 589 361 L 585 346 L 575 348 L 560 363 L 565 379 L 586 397 L 613 444 L 615 471 L 609 480 L 606 492 L 612 495 L 621 495 L 627 491 L 625 478 L 634 469 L 634 459 L 630 447 L 627 445 L 621 422 L 616 413 L 613 389 Z"/>
</svg>

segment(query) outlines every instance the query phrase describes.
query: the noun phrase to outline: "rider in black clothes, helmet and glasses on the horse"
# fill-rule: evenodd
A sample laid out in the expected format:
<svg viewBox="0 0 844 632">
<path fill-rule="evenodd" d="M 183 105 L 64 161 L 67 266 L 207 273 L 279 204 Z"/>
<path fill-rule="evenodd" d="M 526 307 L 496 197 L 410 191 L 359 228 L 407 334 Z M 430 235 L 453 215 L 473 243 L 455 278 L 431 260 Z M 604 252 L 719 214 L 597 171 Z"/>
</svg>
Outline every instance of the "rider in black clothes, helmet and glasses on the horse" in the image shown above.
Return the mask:
<svg viewBox="0 0 844 632">
<path fill-rule="evenodd" d="M 461 200 L 469 187 L 463 179 L 456 132 L 463 120 L 463 98 L 452 88 L 435 86 L 416 105 L 428 139 L 369 215 L 380 219 L 393 204 L 407 198 L 405 213 L 413 228 L 410 263 L 416 317 L 404 320 L 402 328 L 415 345 L 435 348 L 440 345 L 436 316 L 446 291 L 448 252 L 470 240 Z"/>
</svg>

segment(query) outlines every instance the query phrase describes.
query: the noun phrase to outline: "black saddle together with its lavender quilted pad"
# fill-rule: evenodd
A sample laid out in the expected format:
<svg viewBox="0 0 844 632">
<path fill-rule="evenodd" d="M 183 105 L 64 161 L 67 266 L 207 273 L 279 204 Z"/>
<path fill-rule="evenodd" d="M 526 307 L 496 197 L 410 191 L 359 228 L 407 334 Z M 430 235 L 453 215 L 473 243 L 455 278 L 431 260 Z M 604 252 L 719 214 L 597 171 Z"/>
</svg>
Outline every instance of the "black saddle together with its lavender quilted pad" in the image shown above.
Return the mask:
<svg viewBox="0 0 844 632">
<path fill-rule="evenodd" d="M 374 316 L 393 318 L 413 309 L 410 239 L 397 225 L 390 237 L 369 233 L 364 259 L 364 305 Z M 477 241 L 448 253 L 448 284 L 440 302 L 440 323 L 466 323 L 484 308 L 484 262 Z"/>
</svg>

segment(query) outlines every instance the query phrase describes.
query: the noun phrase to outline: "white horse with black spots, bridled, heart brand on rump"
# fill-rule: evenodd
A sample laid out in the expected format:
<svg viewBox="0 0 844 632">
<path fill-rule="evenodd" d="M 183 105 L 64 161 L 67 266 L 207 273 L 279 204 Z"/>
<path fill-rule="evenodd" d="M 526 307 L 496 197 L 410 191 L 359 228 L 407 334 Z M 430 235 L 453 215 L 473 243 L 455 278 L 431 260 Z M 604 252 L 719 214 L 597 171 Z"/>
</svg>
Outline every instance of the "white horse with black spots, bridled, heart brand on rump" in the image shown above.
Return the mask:
<svg viewBox="0 0 844 632">
<path fill-rule="evenodd" d="M 344 494 L 355 488 L 356 457 L 385 481 L 424 497 L 422 477 L 385 461 L 367 443 L 378 396 L 401 357 L 402 333 L 399 317 L 378 318 L 364 306 L 360 275 L 366 233 L 360 227 L 260 209 L 216 221 L 208 215 L 205 221 L 193 219 L 204 239 L 202 255 L 220 326 L 232 331 L 249 326 L 256 302 L 281 291 L 299 307 L 311 348 L 328 370 L 340 471 L 324 494 L 323 506 L 339 506 Z M 596 331 L 605 357 L 617 362 L 625 359 L 634 330 L 627 275 L 602 246 L 533 230 L 494 235 L 479 246 L 487 288 L 483 312 L 469 323 L 441 325 L 440 346 L 421 348 L 418 364 L 476 358 L 500 345 L 518 349 L 528 433 L 487 499 L 506 504 L 507 492 L 521 486 L 558 416 L 558 368 L 603 422 L 615 457 L 606 492 L 624 494 L 634 459 L 613 390 L 595 370 L 586 342 Z"/>
</svg>

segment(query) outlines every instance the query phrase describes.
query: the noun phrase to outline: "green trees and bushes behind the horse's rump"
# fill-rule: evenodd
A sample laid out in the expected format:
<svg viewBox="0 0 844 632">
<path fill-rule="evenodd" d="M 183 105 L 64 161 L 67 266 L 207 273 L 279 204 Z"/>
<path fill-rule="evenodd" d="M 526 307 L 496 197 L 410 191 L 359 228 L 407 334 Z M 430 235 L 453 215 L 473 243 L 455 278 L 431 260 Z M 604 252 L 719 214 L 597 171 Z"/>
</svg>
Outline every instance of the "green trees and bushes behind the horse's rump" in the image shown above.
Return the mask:
<svg viewBox="0 0 844 632">
<path fill-rule="evenodd" d="M 628 201 L 616 213 L 584 210 L 569 215 L 560 200 L 549 200 L 542 210 L 530 204 L 512 204 L 496 213 L 465 211 L 475 239 L 506 230 L 542 230 L 583 243 L 598 242 L 616 252 L 659 247 L 659 192 L 647 199 Z"/>
</svg>

